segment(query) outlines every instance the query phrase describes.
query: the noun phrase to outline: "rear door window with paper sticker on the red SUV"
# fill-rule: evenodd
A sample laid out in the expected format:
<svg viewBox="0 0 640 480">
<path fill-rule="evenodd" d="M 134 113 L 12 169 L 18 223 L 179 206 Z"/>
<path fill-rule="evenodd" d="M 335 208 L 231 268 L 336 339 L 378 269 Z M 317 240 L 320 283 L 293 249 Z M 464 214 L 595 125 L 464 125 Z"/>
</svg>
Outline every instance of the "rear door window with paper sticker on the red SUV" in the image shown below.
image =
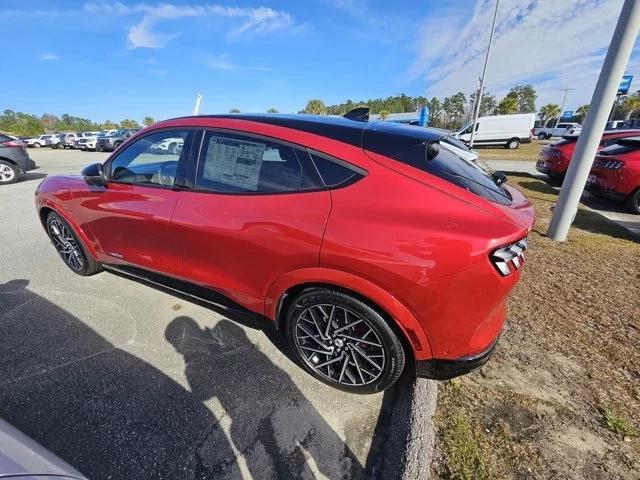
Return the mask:
<svg viewBox="0 0 640 480">
<path fill-rule="evenodd" d="M 282 193 L 324 188 L 309 155 L 251 136 L 206 132 L 196 189 L 220 193 Z"/>
</svg>

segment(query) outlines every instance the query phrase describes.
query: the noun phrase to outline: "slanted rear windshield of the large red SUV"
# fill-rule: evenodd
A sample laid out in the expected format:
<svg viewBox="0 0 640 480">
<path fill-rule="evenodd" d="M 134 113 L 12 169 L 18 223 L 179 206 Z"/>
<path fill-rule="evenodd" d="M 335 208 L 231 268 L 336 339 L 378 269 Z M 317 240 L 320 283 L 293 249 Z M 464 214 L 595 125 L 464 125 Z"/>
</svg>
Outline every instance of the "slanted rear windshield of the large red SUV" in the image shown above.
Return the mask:
<svg viewBox="0 0 640 480">
<path fill-rule="evenodd" d="M 498 184 L 490 172 L 440 147 L 438 142 L 417 145 L 391 158 L 442 178 L 492 202 L 503 205 L 511 203 L 509 192 Z"/>
</svg>

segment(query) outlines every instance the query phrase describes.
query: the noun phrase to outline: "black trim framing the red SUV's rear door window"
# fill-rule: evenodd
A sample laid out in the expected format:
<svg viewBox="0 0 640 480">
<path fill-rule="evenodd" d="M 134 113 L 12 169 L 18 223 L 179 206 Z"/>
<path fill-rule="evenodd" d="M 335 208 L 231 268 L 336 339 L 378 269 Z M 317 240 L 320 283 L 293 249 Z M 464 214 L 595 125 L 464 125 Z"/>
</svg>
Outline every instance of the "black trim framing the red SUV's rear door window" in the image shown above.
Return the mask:
<svg viewBox="0 0 640 480">
<path fill-rule="evenodd" d="M 243 130 L 233 130 L 233 129 L 229 129 L 229 128 L 216 128 L 216 127 L 207 127 L 201 130 L 202 132 L 202 137 L 200 140 L 200 146 L 198 149 L 198 156 L 196 158 L 196 162 L 195 162 L 195 171 L 194 171 L 194 175 L 193 175 L 193 191 L 196 193 L 206 193 L 206 194 L 213 194 L 213 195 L 245 195 L 245 196 L 256 196 L 256 195 L 260 195 L 260 196 L 266 196 L 266 195 L 286 195 L 286 194 L 302 194 L 302 193 L 311 193 L 311 192 L 318 192 L 318 191 L 324 191 L 327 190 L 327 187 L 324 186 L 324 182 L 322 181 L 322 176 L 317 172 L 317 168 L 315 167 L 315 163 L 313 162 L 313 159 L 309 156 L 309 164 L 310 166 L 312 166 L 312 168 L 314 169 L 316 175 L 318 175 L 318 178 L 320 179 L 320 182 L 323 183 L 322 187 L 318 187 L 318 188 L 310 188 L 310 189 L 304 189 L 304 190 L 283 190 L 283 191 L 276 191 L 276 192 L 261 192 L 261 191 L 256 191 L 256 192 L 227 192 L 227 191 L 215 191 L 215 190 L 208 190 L 208 189 L 200 189 L 198 188 L 198 172 L 200 171 L 200 164 L 204 161 L 204 153 L 206 150 L 206 145 L 205 145 L 205 138 L 207 137 L 207 134 L 220 134 L 220 135 L 231 135 L 231 136 L 240 136 L 240 137 L 247 137 L 247 138 L 253 138 L 256 140 L 264 140 L 265 142 L 270 142 L 270 143 L 276 143 L 276 144 L 280 144 L 286 147 L 290 147 L 294 150 L 294 154 L 296 156 L 298 156 L 298 154 L 300 152 L 304 152 L 305 154 L 308 155 L 307 149 L 306 147 L 304 147 L 303 145 L 298 145 L 292 142 L 288 142 L 287 140 L 282 140 L 280 138 L 275 138 L 275 137 L 269 137 L 266 135 L 260 135 L 258 133 L 253 133 L 253 132 L 245 132 Z M 302 167 L 302 165 L 301 165 Z"/>
</svg>

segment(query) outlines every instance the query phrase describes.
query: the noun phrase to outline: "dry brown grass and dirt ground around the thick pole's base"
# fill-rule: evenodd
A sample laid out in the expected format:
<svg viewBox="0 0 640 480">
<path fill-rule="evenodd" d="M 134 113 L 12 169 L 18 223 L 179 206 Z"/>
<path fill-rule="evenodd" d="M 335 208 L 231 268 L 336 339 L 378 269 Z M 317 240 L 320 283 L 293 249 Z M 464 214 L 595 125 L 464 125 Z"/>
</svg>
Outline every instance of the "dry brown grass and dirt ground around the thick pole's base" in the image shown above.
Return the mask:
<svg viewBox="0 0 640 480">
<path fill-rule="evenodd" d="M 640 479 L 640 243 L 580 209 L 547 239 L 556 192 L 535 203 L 522 281 L 495 355 L 439 384 L 434 478 Z"/>
</svg>

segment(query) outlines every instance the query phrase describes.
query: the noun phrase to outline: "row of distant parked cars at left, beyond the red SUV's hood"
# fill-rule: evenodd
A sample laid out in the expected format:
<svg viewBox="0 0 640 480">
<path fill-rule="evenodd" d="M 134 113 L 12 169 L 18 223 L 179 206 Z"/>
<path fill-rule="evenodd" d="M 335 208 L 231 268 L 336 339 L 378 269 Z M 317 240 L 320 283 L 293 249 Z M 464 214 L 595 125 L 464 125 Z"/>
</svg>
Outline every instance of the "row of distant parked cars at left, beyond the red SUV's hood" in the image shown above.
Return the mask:
<svg viewBox="0 0 640 480">
<path fill-rule="evenodd" d="M 99 132 L 53 133 L 32 138 L 21 138 L 20 140 L 25 146 L 32 148 L 77 148 L 80 150 L 111 152 L 138 130 L 140 129 L 120 128 L 101 130 Z"/>
</svg>

